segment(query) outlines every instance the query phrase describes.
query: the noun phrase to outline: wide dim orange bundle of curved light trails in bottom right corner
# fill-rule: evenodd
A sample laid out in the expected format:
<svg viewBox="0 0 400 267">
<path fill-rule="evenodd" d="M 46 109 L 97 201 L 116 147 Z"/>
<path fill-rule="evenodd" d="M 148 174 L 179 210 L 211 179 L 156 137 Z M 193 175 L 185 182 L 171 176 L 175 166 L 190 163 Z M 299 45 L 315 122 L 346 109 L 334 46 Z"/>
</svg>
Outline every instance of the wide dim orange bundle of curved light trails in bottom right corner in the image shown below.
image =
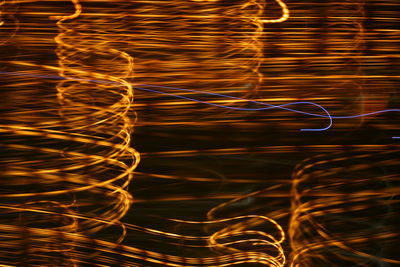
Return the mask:
<svg viewBox="0 0 400 267">
<path fill-rule="evenodd" d="M 398 210 L 397 155 L 337 152 L 297 166 L 290 266 L 400 263 L 390 252 L 399 236 L 391 219 Z"/>
</svg>

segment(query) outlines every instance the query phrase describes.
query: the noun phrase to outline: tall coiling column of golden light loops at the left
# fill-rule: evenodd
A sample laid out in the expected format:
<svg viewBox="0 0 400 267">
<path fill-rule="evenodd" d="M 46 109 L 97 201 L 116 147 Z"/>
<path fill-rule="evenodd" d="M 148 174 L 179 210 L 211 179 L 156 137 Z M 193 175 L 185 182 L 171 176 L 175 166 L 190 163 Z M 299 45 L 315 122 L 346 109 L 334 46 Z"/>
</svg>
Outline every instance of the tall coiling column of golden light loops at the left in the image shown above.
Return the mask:
<svg viewBox="0 0 400 267">
<path fill-rule="evenodd" d="M 82 6 L 77 0 L 73 3 L 74 14 L 54 17 L 58 19 L 57 25 L 60 29 L 60 33 L 55 38 L 58 45 L 56 53 L 60 66 L 59 75 L 77 79 L 103 79 L 112 81 L 114 84 L 95 84 L 80 80 L 59 82 L 57 96 L 60 114 L 68 132 L 85 134 L 90 136 L 90 139 L 108 142 L 105 146 L 98 142 L 89 142 L 82 148 L 76 148 L 75 152 L 93 151 L 94 155 L 101 156 L 100 160 L 87 162 L 80 168 L 82 174 L 89 172 L 93 176 L 92 190 L 105 190 L 105 192 L 109 191 L 107 192 L 109 196 L 114 195 L 115 203 L 109 203 L 111 204 L 108 207 L 109 210 L 103 211 L 98 216 L 110 223 L 115 223 L 126 214 L 130 207 L 131 197 L 126 192 L 126 187 L 132 180 L 132 171 L 139 161 L 138 153 L 130 147 L 133 121 L 128 117 L 128 111 L 133 102 L 133 89 L 125 80 L 127 76 L 133 75 L 134 63 L 133 58 L 127 53 L 113 48 L 113 40 L 107 39 L 106 33 L 99 36 L 100 38 L 87 34 L 85 31 L 90 30 L 90 27 L 96 23 L 104 27 L 109 24 L 101 17 L 91 18 L 91 21 L 79 21 Z M 74 19 L 78 21 L 68 22 Z M 74 29 L 75 26 L 80 29 Z M 103 30 L 107 32 L 106 29 Z M 79 36 L 79 41 L 76 40 L 77 36 Z M 114 65 L 116 61 L 118 64 Z M 113 69 L 109 69 L 108 66 Z M 102 69 L 93 71 L 97 67 Z M 71 160 L 76 162 L 74 164 L 79 164 L 85 158 L 75 157 Z M 123 166 L 122 170 L 115 169 L 114 177 L 110 176 L 114 172 L 105 169 L 107 163 L 111 162 Z M 79 171 L 79 168 L 76 168 L 76 171 Z M 101 210 L 96 206 L 93 206 L 93 209 Z M 86 231 L 94 233 L 107 226 L 107 224 L 93 221 L 81 224 L 83 233 Z"/>
</svg>

